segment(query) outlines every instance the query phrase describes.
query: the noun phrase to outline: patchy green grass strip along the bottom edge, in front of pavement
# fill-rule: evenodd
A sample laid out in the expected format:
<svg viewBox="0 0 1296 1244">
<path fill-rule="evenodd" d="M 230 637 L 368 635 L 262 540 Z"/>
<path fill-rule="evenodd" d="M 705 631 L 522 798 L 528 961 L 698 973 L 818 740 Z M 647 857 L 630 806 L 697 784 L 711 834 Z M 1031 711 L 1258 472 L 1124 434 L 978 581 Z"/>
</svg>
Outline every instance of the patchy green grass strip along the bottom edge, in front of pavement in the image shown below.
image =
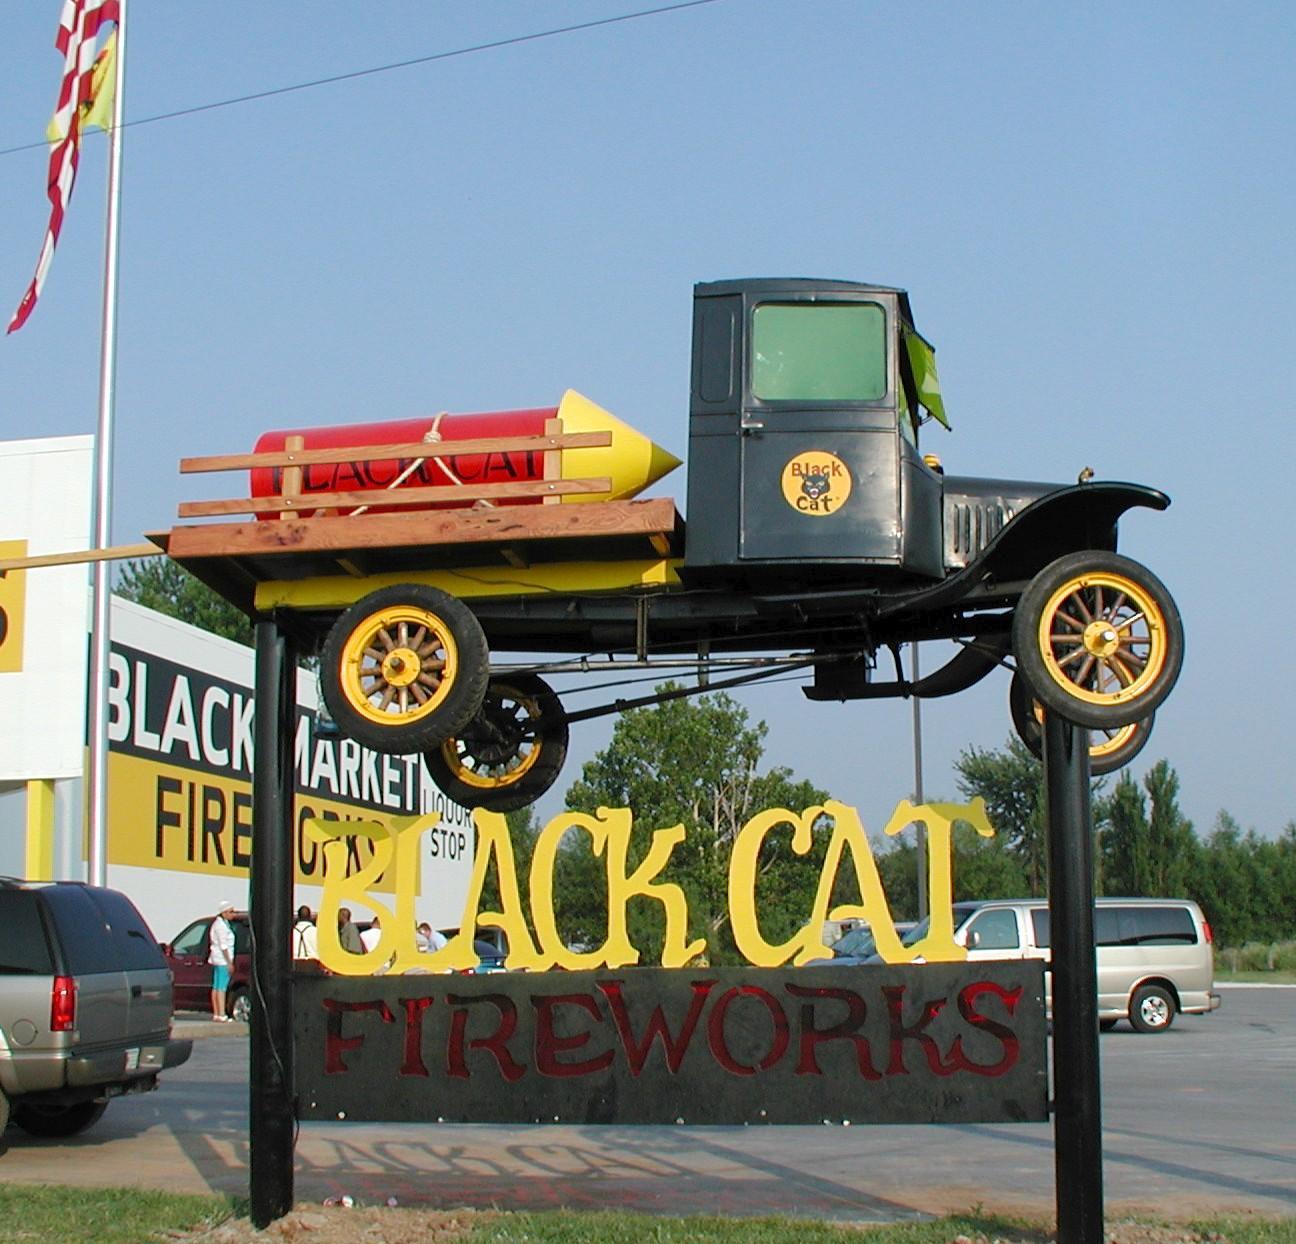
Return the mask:
<svg viewBox="0 0 1296 1244">
<path fill-rule="evenodd" d="M 394 1209 L 394 1215 L 407 1210 Z M 180 1196 L 137 1190 L 89 1190 L 0 1184 L 0 1244 L 140 1244 L 171 1232 L 245 1218 L 246 1201 L 227 1196 Z M 472 1221 L 472 1219 L 469 1219 Z M 240 1223 L 246 1227 L 246 1222 Z M 1120 1234 L 1120 1227 L 1116 1227 Z M 1226 1244 L 1296 1244 L 1296 1218 L 1212 1218 L 1181 1223 L 1175 1235 L 1196 1232 Z M 499 1213 L 480 1215 L 461 1244 L 951 1244 L 1011 1240 L 1043 1244 L 1038 1222 L 985 1213 L 980 1206 L 934 1222 L 855 1227 L 788 1218 L 662 1218 L 622 1213 Z"/>
</svg>

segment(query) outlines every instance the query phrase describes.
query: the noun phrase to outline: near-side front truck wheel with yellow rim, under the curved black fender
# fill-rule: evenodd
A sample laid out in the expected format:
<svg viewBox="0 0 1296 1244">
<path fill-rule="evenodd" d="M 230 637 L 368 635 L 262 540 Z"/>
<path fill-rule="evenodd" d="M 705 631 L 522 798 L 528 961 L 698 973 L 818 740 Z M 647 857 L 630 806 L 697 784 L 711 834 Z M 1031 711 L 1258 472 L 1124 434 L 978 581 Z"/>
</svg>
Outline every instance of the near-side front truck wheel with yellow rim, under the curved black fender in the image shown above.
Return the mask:
<svg viewBox="0 0 1296 1244">
<path fill-rule="evenodd" d="M 1012 647 L 1047 711 L 1117 730 L 1151 717 L 1170 693 L 1183 666 L 1183 623 L 1151 570 L 1090 549 L 1030 581 L 1013 613 Z"/>
</svg>

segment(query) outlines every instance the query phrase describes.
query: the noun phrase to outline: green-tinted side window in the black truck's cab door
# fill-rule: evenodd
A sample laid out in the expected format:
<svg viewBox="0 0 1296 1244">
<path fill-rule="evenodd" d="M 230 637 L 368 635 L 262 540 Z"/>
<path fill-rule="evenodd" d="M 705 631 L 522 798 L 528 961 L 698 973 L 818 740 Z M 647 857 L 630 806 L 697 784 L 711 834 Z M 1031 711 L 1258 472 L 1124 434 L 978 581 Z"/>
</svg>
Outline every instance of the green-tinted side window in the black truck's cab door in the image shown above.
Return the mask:
<svg viewBox="0 0 1296 1244">
<path fill-rule="evenodd" d="M 761 402 L 876 402 L 886 397 L 886 314 L 875 302 L 766 303 L 752 359 Z"/>
</svg>

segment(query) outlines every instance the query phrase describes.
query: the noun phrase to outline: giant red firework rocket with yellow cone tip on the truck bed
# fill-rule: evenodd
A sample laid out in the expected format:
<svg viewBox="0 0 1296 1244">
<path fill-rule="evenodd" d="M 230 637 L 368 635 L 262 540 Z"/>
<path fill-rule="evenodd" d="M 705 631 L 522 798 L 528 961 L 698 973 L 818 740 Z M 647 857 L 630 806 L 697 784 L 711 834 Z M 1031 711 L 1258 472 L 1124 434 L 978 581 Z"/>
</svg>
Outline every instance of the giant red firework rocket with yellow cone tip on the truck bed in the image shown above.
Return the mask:
<svg viewBox="0 0 1296 1244">
<path fill-rule="evenodd" d="M 572 439 L 588 442 L 564 448 L 560 455 L 542 446 L 526 444 L 560 432 Z M 496 447 L 480 447 L 481 442 Z M 375 447 L 400 447 L 400 454 L 373 457 Z M 507 446 L 516 444 L 515 448 Z M 411 454 L 411 446 L 426 446 L 426 455 Z M 311 461 L 314 451 L 354 448 L 354 457 L 329 454 L 329 461 Z M 491 504 L 534 505 L 546 494 L 516 495 L 495 486 L 559 481 L 605 481 L 596 491 L 561 491 L 555 500 L 609 501 L 638 495 L 679 465 L 679 459 L 654 444 L 634 428 L 569 389 L 557 407 L 526 411 L 491 411 L 476 415 L 439 413 L 425 419 L 394 420 L 377 424 L 345 424 L 333 428 L 305 428 L 267 432 L 257 442 L 257 454 L 307 451 L 299 470 L 257 466 L 251 470 L 253 498 L 283 498 L 292 494 L 303 503 L 312 495 L 365 494 L 363 509 L 380 513 L 380 498 L 393 490 L 437 490 L 420 500 L 420 508 L 470 505 L 485 492 Z M 292 470 L 292 473 L 289 473 Z M 445 490 L 443 496 L 439 490 Z M 373 494 L 372 503 L 367 494 Z M 412 498 L 402 498 L 407 504 Z M 259 517 L 271 517 L 260 513 Z"/>
</svg>

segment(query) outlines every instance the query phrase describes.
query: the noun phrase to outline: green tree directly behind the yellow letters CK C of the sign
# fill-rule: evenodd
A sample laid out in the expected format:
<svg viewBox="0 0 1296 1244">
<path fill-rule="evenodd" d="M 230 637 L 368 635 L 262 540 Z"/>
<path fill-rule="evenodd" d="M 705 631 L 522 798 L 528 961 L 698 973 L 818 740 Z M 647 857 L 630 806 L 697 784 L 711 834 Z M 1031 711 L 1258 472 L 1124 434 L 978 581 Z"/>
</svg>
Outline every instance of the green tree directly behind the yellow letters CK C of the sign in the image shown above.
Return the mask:
<svg viewBox="0 0 1296 1244">
<path fill-rule="evenodd" d="M 660 688 L 671 689 L 673 684 Z M 688 898 L 688 936 L 705 937 L 712 963 L 736 963 L 728 927 L 728 862 L 734 838 L 745 822 L 767 807 L 801 811 L 827 794 L 791 770 L 761 771 L 766 726 L 753 724 L 741 705 L 724 693 L 674 700 L 622 714 L 612 743 L 582 770 L 566 794 L 572 810 L 630 807 L 634 828 L 630 866 L 647 854 L 652 833 L 683 824 L 662 880 L 674 881 Z M 827 825 L 814 850 L 797 855 L 791 828 L 766 838 L 757 879 L 757 907 L 770 941 L 791 937 L 805 921 L 827 849 Z M 559 928 L 573 943 L 597 945 L 607 929 L 603 862 L 588 840 L 569 832 L 555 872 Z M 631 903 L 630 936 L 645 952 L 660 952 L 660 904 Z"/>
</svg>

